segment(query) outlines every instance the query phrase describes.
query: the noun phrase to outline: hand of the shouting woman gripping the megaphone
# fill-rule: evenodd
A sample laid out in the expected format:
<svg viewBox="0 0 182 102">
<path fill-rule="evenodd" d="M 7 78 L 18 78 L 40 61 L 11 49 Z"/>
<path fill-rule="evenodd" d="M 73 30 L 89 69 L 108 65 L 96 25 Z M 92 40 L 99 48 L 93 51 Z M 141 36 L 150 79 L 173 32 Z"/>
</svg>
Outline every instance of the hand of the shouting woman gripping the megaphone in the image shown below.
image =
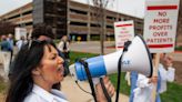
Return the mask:
<svg viewBox="0 0 182 102">
<path fill-rule="evenodd" d="M 115 89 L 114 89 L 113 84 L 111 83 L 111 81 L 109 80 L 109 76 L 103 78 L 103 83 L 105 85 L 105 89 L 107 89 L 109 95 L 113 96 Z M 95 84 L 95 92 L 97 92 L 98 102 L 108 102 L 100 83 Z"/>
</svg>

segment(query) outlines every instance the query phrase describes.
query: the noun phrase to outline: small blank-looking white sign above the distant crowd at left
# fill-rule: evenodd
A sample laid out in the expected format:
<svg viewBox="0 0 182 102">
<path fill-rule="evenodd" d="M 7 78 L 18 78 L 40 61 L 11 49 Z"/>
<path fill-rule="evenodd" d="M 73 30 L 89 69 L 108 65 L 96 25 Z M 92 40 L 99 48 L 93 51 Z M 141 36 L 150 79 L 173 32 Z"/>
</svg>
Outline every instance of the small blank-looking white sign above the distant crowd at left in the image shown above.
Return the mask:
<svg viewBox="0 0 182 102">
<path fill-rule="evenodd" d="M 16 40 L 20 40 L 21 37 L 27 38 L 27 29 L 26 28 L 16 28 Z"/>
</svg>

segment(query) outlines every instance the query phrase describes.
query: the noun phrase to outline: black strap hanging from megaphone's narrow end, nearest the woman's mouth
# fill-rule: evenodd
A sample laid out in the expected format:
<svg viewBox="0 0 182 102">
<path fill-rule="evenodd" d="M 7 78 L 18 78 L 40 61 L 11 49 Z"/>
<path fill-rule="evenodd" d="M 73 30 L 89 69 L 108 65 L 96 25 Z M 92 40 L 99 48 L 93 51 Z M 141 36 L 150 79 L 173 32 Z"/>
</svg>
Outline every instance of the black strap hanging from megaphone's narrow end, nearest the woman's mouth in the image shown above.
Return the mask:
<svg viewBox="0 0 182 102">
<path fill-rule="evenodd" d="M 94 102 L 97 102 L 97 95 L 95 95 L 95 91 L 94 91 L 92 76 L 91 76 L 91 73 L 89 71 L 88 62 L 84 61 L 84 60 L 81 60 L 81 59 L 79 60 L 79 62 L 84 65 L 83 68 L 85 70 L 85 73 L 87 73 L 87 76 L 88 76 L 88 80 L 89 80 L 89 84 L 90 84 L 90 88 L 91 88 L 91 91 L 92 91 L 92 95 L 93 95 Z"/>
</svg>

